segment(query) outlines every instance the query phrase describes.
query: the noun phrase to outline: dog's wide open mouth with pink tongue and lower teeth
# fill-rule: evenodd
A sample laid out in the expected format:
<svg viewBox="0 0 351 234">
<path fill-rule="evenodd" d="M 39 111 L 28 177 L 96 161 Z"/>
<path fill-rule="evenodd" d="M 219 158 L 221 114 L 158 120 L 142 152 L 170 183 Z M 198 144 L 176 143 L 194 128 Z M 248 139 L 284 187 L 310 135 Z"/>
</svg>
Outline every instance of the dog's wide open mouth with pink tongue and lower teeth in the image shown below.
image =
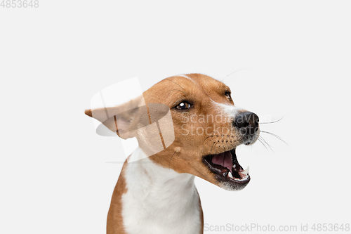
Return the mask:
<svg viewBox="0 0 351 234">
<path fill-rule="evenodd" d="M 235 148 L 221 152 L 218 155 L 205 156 L 204 164 L 216 174 L 218 181 L 239 184 L 246 184 L 250 181 L 249 167 L 244 170 L 240 166 L 235 154 Z"/>
</svg>

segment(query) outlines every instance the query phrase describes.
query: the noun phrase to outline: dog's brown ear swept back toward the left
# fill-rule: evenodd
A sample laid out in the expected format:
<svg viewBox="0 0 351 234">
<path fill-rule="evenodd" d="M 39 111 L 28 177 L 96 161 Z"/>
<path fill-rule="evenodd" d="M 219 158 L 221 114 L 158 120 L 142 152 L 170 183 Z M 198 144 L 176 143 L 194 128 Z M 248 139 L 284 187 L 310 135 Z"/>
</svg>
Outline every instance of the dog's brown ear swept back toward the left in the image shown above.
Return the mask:
<svg viewBox="0 0 351 234">
<path fill-rule="evenodd" d="M 134 137 L 135 130 L 149 123 L 143 96 L 115 107 L 86 110 L 85 114 L 97 119 L 124 139 Z M 104 130 L 105 128 L 98 126 L 96 132 L 102 136 L 113 136 L 111 132 L 109 134 Z"/>
</svg>

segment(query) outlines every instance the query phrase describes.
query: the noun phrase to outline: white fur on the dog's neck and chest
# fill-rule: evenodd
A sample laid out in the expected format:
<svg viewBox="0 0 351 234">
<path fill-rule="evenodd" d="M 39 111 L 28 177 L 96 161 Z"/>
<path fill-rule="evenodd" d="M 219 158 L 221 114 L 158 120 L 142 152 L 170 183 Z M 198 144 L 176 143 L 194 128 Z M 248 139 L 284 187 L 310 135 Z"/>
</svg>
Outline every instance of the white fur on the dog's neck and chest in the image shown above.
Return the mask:
<svg viewBox="0 0 351 234">
<path fill-rule="evenodd" d="M 140 156 L 144 152 L 137 148 L 129 160 Z M 124 175 L 122 214 L 128 233 L 200 233 L 201 205 L 194 176 L 178 174 L 147 157 L 126 164 Z"/>
</svg>

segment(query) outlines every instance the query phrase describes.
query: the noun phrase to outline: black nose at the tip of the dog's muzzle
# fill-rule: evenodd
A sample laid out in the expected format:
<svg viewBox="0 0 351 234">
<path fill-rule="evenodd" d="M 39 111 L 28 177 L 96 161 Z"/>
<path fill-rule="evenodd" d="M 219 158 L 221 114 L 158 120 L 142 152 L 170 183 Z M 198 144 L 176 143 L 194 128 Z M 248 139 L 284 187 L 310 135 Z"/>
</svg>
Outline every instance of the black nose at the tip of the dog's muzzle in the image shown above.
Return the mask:
<svg viewBox="0 0 351 234">
<path fill-rule="evenodd" d="M 253 112 L 241 112 L 234 119 L 234 126 L 241 134 L 255 134 L 258 131 L 258 116 Z"/>
</svg>

